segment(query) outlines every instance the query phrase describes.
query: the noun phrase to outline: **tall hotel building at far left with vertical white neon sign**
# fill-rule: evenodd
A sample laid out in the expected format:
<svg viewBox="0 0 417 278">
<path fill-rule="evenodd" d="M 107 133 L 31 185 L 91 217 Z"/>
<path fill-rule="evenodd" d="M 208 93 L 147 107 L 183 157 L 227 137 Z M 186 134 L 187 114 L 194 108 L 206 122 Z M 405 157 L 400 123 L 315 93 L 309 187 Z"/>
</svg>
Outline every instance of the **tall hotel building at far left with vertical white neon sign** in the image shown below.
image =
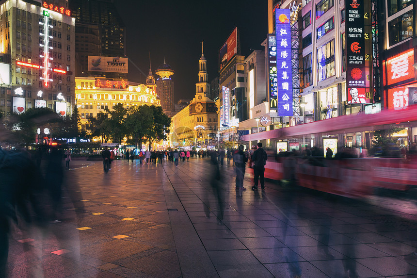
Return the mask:
<svg viewBox="0 0 417 278">
<path fill-rule="evenodd" d="M 0 56 L 11 68 L 10 85 L 0 90 L 1 111 L 72 113 L 74 26 L 67 0 L 0 1 Z"/>
</svg>

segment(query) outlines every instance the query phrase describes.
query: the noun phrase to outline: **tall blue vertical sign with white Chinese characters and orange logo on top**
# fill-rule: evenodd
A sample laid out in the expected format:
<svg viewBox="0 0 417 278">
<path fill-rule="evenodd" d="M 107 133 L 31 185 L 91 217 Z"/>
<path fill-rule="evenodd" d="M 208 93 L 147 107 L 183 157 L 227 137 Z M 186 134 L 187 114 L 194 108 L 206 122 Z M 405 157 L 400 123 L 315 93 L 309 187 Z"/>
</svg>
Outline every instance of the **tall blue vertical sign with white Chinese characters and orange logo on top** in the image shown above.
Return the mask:
<svg viewBox="0 0 417 278">
<path fill-rule="evenodd" d="M 289 20 L 289 9 L 275 9 L 275 22 L 278 99 L 276 105 L 278 116 L 292 116 L 291 21 Z M 271 102 L 270 107 L 273 107 L 275 103 Z"/>
</svg>

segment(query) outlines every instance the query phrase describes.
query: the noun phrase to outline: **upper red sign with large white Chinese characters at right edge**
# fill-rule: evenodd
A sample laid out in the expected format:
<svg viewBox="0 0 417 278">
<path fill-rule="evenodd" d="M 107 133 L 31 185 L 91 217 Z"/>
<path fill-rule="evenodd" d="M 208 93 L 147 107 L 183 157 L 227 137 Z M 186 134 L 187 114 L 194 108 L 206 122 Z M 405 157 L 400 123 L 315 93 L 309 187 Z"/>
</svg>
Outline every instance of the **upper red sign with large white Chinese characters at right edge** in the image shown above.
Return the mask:
<svg viewBox="0 0 417 278">
<path fill-rule="evenodd" d="M 414 69 L 414 49 L 401 52 L 386 61 L 386 84 L 402 82 L 413 79 Z"/>
</svg>

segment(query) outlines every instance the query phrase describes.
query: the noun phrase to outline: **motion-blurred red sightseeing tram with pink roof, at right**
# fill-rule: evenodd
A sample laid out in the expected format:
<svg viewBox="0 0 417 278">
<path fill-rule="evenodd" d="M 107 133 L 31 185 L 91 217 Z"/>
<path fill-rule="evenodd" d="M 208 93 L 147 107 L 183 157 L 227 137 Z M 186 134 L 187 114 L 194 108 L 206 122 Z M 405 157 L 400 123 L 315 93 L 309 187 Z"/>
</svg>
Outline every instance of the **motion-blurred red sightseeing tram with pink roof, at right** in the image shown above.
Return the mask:
<svg viewBox="0 0 417 278">
<path fill-rule="evenodd" d="M 417 105 L 401 111 L 384 110 L 378 114 L 356 114 L 306 123 L 289 128 L 245 135 L 245 141 L 287 140 L 305 135 L 338 135 L 348 132 L 385 130 L 388 127 L 417 127 Z M 339 146 L 340 147 L 340 146 Z M 276 152 L 276 150 L 275 150 Z M 253 172 L 250 172 L 253 175 Z M 347 197 L 363 197 L 375 188 L 417 191 L 417 160 L 367 157 L 325 159 L 324 157 L 276 157 L 269 154 L 265 178 L 295 179 L 300 186 Z"/>
</svg>

